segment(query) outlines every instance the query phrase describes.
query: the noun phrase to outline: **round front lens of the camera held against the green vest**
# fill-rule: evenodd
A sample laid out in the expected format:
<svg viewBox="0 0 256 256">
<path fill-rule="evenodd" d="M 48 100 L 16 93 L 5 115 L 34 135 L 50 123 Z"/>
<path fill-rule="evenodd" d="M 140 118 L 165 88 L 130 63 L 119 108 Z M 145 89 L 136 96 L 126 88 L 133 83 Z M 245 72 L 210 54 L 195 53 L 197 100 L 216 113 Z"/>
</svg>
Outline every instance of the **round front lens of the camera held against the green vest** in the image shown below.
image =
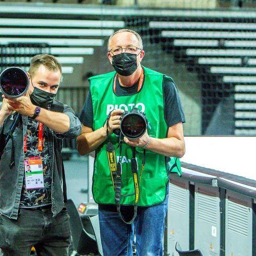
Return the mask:
<svg viewBox="0 0 256 256">
<path fill-rule="evenodd" d="M 120 129 L 128 139 L 138 139 L 145 133 L 146 125 L 141 114 L 129 113 L 122 118 Z"/>
</svg>

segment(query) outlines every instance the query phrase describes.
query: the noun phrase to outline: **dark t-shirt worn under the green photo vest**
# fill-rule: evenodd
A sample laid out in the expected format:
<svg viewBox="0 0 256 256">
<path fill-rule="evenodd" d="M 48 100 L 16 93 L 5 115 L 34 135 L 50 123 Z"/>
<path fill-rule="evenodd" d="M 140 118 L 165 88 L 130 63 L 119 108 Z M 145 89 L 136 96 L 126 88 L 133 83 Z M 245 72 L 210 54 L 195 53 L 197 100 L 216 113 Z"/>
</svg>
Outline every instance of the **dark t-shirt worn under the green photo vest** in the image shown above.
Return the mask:
<svg viewBox="0 0 256 256">
<path fill-rule="evenodd" d="M 116 95 L 126 96 L 137 93 L 139 84 L 138 81 L 131 87 L 121 86 L 118 79 L 116 79 Z M 150 92 L 148 92 L 150 93 Z M 163 96 L 164 96 L 164 118 L 167 126 L 185 122 L 184 112 L 180 100 L 178 90 L 172 80 L 167 76 L 163 78 Z M 82 112 L 80 114 L 80 121 L 83 125 L 92 128 L 93 127 L 93 103 L 91 91 L 87 95 L 86 102 L 83 105 Z M 116 205 L 104 205 L 100 204 L 99 209 L 117 211 Z M 125 216 L 133 214 L 133 206 L 122 206 L 122 214 Z M 129 219 L 129 218 L 128 218 Z"/>
</svg>

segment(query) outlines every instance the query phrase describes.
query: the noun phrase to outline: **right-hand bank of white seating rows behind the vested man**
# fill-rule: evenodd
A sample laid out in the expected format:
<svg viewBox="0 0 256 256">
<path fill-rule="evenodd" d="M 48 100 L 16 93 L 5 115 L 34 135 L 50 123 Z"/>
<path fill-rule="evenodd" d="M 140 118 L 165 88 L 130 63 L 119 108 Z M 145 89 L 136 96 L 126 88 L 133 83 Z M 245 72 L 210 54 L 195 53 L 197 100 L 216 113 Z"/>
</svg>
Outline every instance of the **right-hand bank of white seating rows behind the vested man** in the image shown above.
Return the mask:
<svg viewBox="0 0 256 256">
<path fill-rule="evenodd" d="M 198 72 L 206 120 L 214 115 L 217 103 L 232 98 L 236 135 L 256 134 L 256 25 L 244 23 L 246 17 L 254 15 L 239 16 L 236 22 L 225 16 L 212 22 L 211 16 L 204 17 L 205 22 L 197 17 L 149 24 L 165 42 L 164 50 L 174 52 L 176 61 L 185 62 L 189 71 Z"/>
</svg>

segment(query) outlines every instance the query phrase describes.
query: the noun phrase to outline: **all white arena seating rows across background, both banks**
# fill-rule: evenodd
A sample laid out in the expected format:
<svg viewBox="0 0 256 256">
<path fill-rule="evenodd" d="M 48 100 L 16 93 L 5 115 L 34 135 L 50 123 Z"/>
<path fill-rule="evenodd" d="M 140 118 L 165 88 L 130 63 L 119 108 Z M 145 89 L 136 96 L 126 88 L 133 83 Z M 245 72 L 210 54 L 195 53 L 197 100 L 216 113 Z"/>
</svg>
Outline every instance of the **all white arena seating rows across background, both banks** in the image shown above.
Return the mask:
<svg viewBox="0 0 256 256">
<path fill-rule="evenodd" d="M 90 56 L 105 55 L 106 40 L 115 30 L 135 29 L 143 40 L 149 39 L 153 47 L 161 46 L 163 54 L 174 56 L 189 72 L 198 74 L 203 134 L 217 115 L 218 105 L 227 111 L 221 104 L 225 100 L 233 105 L 227 113 L 232 133 L 256 134 L 254 11 L 84 6 L 1 3 L 0 44 L 45 42 L 62 63 L 65 80 L 73 72 L 81 75 L 77 67 L 84 65 L 85 58 L 96 65 Z M 97 65 L 94 70 L 103 73 L 102 65 Z"/>
</svg>

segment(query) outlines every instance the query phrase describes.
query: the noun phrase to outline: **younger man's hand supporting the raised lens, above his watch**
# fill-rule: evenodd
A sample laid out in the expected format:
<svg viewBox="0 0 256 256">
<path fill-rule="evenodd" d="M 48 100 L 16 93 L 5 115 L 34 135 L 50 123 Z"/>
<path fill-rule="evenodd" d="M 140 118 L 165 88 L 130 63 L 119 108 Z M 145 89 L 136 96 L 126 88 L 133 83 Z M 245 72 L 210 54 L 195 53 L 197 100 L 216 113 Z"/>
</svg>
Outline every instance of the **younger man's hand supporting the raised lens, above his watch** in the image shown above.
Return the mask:
<svg viewBox="0 0 256 256">
<path fill-rule="evenodd" d="M 7 101 L 7 108 L 18 112 L 19 114 L 30 116 L 34 115 L 36 106 L 32 104 L 29 93 L 27 92 L 24 96 L 19 98 L 8 98 L 3 96 Z"/>
</svg>

